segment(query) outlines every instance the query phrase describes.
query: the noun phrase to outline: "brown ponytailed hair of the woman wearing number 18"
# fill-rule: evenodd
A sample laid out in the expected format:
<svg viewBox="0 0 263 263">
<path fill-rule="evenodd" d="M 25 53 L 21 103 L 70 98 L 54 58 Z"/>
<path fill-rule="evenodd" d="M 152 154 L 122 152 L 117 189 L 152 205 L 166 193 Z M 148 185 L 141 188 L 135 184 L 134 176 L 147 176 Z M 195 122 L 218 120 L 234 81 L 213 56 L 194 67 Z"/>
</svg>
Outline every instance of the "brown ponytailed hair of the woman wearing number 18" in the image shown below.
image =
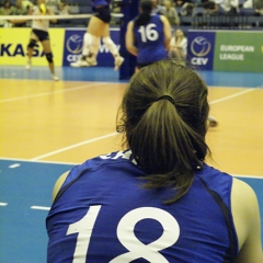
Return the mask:
<svg viewBox="0 0 263 263">
<path fill-rule="evenodd" d="M 209 151 L 207 92 L 195 71 L 164 59 L 133 76 L 124 94 L 117 132 L 125 132 L 124 145 L 148 174 L 147 188 L 172 185 L 178 190 L 165 203 L 188 191 Z M 163 95 L 173 101 L 158 100 Z"/>
</svg>

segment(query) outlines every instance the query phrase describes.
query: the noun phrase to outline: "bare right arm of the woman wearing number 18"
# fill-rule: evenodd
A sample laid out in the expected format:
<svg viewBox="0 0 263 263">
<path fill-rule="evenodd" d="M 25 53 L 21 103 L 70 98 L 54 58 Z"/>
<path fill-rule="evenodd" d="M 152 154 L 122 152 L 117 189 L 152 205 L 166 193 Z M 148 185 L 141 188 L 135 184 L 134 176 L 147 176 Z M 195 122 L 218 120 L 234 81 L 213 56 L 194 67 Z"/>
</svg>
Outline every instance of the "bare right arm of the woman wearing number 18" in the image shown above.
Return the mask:
<svg viewBox="0 0 263 263">
<path fill-rule="evenodd" d="M 261 218 L 254 191 L 243 181 L 233 179 L 231 192 L 233 222 L 239 253 L 235 263 L 262 263 Z"/>
</svg>

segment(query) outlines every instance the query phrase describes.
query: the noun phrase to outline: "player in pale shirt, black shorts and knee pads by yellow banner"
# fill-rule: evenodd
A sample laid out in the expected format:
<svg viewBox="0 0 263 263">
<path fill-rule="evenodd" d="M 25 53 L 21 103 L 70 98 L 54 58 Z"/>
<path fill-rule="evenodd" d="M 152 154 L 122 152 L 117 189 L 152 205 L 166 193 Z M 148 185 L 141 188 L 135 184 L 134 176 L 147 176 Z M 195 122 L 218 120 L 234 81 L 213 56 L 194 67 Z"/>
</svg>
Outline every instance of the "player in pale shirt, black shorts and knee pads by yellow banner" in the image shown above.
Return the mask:
<svg viewBox="0 0 263 263">
<path fill-rule="evenodd" d="M 53 15 L 53 11 L 45 7 L 42 5 L 45 3 L 45 0 L 37 0 L 37 5 L 34 5 L 30 9 L 30 14 L 32 15 L 42 15 L 42 14 L 49 14 Z M 56 23 L 57 20 L 53 19 L 50 20 L 50 22 Z M 48 67 L 49 70 L 52 72 L 52 77 L 55 81 L 58 80 L 58 77 L 55 75 L 55 66 L 54 66 L 54 60 L 53 60 L 53 50 L 50 47 L 50 38 L 49 38 L 49 34 L 48 34 L 48 27 L 49 27 L 49 20 L 33 20 L 32 21 L 32 32 L 31 32 L 31 36 L 30 36 L 30 43 L 27 45 L 27 64 L 25 66 L 25 68 L 27 70 L 31 69 L 31 65 L 32 65 L 32 56 L 33 56 L 33 52 L 34 52 L 34 47 L 36 46 L 37 42 L 41 42 L 47 62 L 48 62 Z"/>
</svg>

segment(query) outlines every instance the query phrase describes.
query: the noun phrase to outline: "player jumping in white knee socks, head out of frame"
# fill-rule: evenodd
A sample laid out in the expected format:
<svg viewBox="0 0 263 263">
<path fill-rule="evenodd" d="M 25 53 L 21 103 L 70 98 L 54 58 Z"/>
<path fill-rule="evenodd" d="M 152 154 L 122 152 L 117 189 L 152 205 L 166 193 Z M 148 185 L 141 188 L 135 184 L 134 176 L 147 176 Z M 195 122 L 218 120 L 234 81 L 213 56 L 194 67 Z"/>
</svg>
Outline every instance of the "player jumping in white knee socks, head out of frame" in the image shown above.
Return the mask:
<svg viewBox="0 0 263 263">
<path fill-rule="evenodd" d="M 101 38 L 114 57 L 114 70 L 118 70 L 122 66 L 124 58 L 119 56 L 117 46 L 110 36 L 111 1 L 112 0 L 91 0 L 94 15 L 90 18 L 87 33 L 83 37 L 82 56 L 78 61 L 71 62 L 71 67 L 96 66 L 96 56 Z"/>
</svg>

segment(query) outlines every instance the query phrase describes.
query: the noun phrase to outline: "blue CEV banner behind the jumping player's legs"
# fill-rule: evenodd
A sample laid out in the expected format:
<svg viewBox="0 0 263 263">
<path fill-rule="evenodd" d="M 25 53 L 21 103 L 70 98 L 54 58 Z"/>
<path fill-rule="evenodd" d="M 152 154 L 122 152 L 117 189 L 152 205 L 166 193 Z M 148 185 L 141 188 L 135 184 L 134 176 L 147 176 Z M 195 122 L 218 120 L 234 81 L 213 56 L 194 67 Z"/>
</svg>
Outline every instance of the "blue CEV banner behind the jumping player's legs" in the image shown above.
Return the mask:
<svg viewBox="0 0 263 263">
<path fill-rule="evenodd" d="M 83 30 L 66 30 L 65 34 L 65 46 L 64 46 L 64 59 L 62 65 L 69 66 L 70 62 L 75 62 L 78 60 L 78 57 L 81 56 L 82 46 L 83 46 L 83 35 L 87 32 L 85 28 Z M 111 37 L 113 42 L 117 45 L 119 50 L 119 28 L 111 28 Z M 98 65 L 101 67 L 113 67 L 114 59 L 108 50 L 107 46 L 101 42 L 101 46 L 99 49 L 98 55 Z"/>
</svg>

